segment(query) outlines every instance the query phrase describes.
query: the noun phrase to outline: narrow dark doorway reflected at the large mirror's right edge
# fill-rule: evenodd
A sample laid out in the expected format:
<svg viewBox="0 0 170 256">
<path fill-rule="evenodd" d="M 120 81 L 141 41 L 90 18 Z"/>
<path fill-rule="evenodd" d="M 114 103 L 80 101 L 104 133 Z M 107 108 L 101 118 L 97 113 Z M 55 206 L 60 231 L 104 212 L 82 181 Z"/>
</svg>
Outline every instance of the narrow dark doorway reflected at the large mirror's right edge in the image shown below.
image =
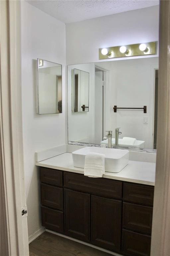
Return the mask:
<svg viewBox="0 0 170 256">
<path fill-rule="evenodd" d="M 155 105 L 154 105 L 153 149 L 156 149 L 157 119 L 158 119 L 158 69 L 155 69 Z"/>
</svg>

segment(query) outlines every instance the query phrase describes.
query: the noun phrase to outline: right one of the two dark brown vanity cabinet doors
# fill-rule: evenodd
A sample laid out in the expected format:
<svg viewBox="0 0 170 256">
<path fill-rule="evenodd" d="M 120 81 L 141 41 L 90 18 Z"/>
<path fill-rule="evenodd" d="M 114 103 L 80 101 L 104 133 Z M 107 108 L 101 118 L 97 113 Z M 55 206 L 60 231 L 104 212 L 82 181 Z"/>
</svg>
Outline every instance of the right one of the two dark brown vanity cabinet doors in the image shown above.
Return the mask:
<svg viewBox="0 0 170 256">
<path fill-rule="evenodd" d="M 121 246 L 122 201 L 91 196 L 91 242 L 108 250 Z"/>
</svg>

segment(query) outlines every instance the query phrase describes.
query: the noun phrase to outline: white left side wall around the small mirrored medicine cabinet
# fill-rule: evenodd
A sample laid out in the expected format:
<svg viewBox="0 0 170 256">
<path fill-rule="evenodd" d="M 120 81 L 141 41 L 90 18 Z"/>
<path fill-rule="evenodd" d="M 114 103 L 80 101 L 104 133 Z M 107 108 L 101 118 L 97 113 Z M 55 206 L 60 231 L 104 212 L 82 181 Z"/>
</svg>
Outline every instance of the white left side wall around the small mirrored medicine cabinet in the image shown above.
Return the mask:
<svg viewBox="0 0 170 256">
<path fill-rule="evenodd" d="M 65 24 L 21 1 L 23 141 L 28 229 L 32 236 L 41 228 L 39 173 L 35 151 L 66 142 Z M 62 114 L 36 114 L 36 60 L 62 64 Z"/>
</svg>

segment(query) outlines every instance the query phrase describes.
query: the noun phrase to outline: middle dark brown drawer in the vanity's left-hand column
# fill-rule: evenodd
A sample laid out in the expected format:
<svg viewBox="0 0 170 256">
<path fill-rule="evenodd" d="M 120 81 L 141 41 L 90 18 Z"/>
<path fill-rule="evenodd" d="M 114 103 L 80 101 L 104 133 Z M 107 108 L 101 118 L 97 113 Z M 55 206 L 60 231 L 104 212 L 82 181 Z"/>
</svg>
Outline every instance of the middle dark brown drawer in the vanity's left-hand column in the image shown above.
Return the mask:
<svg viewBox="0 0 170 256">
<path fill-rule="evenodd" d="M 63 210 L 63 189 L 41 184 L 41 204 Z"/>
</svg>

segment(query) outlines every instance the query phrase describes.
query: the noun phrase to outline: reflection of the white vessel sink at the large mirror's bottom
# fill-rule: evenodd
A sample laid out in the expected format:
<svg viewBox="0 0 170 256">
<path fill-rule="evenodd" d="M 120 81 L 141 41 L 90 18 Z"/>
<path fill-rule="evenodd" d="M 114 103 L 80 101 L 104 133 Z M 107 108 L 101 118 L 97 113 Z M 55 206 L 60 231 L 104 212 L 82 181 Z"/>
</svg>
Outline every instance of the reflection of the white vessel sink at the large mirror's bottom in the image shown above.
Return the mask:
<svg viewBox="0 0 170 256">
<path fill-rule="evenodd" d="M 101 145 L 108 145 L 108 139 L 102 140 Z M 128 140 L 128 142 L 123 138 L 119 139 L 118 142 L 119 146 L 121 147 L 134 147 L 134 148 L 144 148 L 145 142 L 143 140 Z M 115 138 L 112 138 L 112 146 L 115 145 Z"/>
</svg>

